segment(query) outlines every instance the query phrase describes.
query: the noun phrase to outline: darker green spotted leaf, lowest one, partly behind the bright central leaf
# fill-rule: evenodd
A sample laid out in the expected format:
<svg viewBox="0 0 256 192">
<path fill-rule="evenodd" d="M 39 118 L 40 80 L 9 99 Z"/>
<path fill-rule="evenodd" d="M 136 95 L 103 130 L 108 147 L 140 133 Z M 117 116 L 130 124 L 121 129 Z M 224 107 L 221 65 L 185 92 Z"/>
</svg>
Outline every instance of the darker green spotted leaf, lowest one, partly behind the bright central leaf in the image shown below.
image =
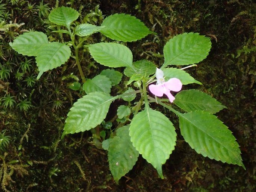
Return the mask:
<svg viewBox="0 0 256 192">
<path fill-rule="evenodd" d="M 117 135 L 111 139 L 108 148 L 110 171 L 116 182 L 133 168 L 138 157 L 139 152 L 130 140 L 129 126 L 118 128 Z"/>
</svg>

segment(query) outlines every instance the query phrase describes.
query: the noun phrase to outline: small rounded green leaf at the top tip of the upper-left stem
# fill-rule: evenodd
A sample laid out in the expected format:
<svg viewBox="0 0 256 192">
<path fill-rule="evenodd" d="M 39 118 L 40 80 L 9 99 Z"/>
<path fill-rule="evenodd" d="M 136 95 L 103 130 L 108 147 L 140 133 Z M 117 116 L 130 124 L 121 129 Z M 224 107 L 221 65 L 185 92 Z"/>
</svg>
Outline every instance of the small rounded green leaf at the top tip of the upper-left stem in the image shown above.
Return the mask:
<svg viewBox="0 0 256 192">
<path fill-rule="evenodd" d="M 71 7 L 58 7 L 53 9 L 49 14 L 49 20 L 57 25 L 70 28 L 70 24 L 77 20 L 79 13 Z"/>
</svg>

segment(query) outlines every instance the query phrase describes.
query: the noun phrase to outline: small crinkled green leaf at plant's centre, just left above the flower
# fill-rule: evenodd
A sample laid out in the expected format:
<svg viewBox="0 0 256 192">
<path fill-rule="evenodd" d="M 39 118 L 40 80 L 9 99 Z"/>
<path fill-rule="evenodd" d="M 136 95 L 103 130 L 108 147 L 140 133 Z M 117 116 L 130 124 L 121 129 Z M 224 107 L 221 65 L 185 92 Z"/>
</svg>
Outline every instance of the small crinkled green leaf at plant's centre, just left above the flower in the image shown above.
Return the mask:
<svg viewBox="0 0 256 192">
<path fill-rule="evenodd" d="M 149 75 L 154 74 L 156 70 L 155 64 L 146 59 L 133 62 L 132 65 L 133 65 L 133 68 L 127 67 L 124 69 L 124 74 L 127 77 L 132 77 L 132 75 L 135 75 L 135 74 L 139 74 L 139 75 L 142 75 L 143 77 L 147 77 Z"/>
</svg>

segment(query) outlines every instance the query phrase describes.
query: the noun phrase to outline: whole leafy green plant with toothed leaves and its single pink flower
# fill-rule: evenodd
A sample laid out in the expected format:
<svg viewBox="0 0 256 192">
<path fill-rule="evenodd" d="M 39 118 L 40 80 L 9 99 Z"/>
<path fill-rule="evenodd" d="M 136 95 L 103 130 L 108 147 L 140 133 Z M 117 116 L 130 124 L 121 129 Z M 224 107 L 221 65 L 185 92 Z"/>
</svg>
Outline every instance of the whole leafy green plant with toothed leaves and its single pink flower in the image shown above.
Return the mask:
<svg viewBox="0 0 256 192">
<path fill-rule="evenodd" d="M 111 88 L 120 84 L 123 74 L 114 69 L 105 69 L 92 79 L 86 79 L 80 65 L 78 49 L 95 32 L 124 42 L 139 40 L 152 32 L 141 21 L 125 14 L 108 16 L 101 26 L 77 24 L 73 27 L 72 23 L 77 18 L 78 12 L 68 7 L 58 7 L 49 14 L 51 22 L 65 27 L 53 32 L 68 34 L 71 40 L 69 42 L 49 43 L 44 33 L 34 31 L 24 33 L 10 43 L 22 55 L 36 56 L 39 69 L 37 79 L 43 72 L 57 68 L 70 57 L 75 59 L 86 95 L 78 99 L 70 109 L 62 138 L 66 134 L 91 130 L 95 145 L 101 147 L 99 139 L 105 139 L 105 130 L 109 129 L 109 138 L 102 142 L 102 148 L 108 151 L 110 170 L 116 181 L 132 169 L 139 154 L 156 168 L 163 179 L 162 165 L 175 148 L 177 134 L 172 122 L 166 117 L 167 114 L 152 109 L 159 104 L 178 116 L 182 136 L 198 154 L 245 168 L 235 137 L 213 115 L 226 107 L 198 90 L 179 92 L 182 85 L 201 84 L 184 69 L 196 66 L 206 58 L 211 48 L 209 38 L 192 32 L 176 35 L 164 46 L 164 63 L 160 64 L 160 69 L 148 60 L 133 62 L 131 50 L 123 44 L 87 44 L 90 55 L 99 64 L 110 68 L 125 67 L 124 75 L 129 79 L 126 86 L 129 88 L 123 90 L 121 95 L 111 96 Z M 71 55 L 70 46 L 74 48 L 74 56 Z M 172 68 L 168 67 L 170 65 L 187 66 Z M 152 84 L 155 81 L 157 84 Z M 137 90 L 132 88 L 132 83 Z M 79 87 L 78 84 L 75 89 Z M 155 98 L 148 95 L 147 87 Z M 174 97 L 170 91 L 179 93 Z M 135 102 L 137 94 L 139 96 Z M 157 96 L 163 95 L 168 99 L 157 99 Z M 58 94 L 56 98 L 58 99 Z M 111 102 L 116 99 L 123 99 L 128 103 L 117 107 L 117 115 L 108 121 L 111 124 L 105 123 Z M 180 111 L 174 109 L 172 103 Z M 102 128 L 104 130 L 100 132 Z"/>
</svg>

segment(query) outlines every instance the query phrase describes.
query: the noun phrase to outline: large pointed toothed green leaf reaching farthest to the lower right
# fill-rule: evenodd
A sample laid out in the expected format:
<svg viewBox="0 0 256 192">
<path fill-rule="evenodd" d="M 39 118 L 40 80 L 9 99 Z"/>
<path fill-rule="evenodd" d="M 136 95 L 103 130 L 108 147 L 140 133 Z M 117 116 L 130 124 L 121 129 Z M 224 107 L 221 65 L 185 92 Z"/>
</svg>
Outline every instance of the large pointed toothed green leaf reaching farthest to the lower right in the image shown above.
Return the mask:
<svg viewBox="0 0 256 192">
<path fill-rule="evenodd" d="M 241 151 L 232 132 L 206 111 L 179 114 L 181 134 L 192 149 L 204 157 L 244 167 Z"/>
</svg>

